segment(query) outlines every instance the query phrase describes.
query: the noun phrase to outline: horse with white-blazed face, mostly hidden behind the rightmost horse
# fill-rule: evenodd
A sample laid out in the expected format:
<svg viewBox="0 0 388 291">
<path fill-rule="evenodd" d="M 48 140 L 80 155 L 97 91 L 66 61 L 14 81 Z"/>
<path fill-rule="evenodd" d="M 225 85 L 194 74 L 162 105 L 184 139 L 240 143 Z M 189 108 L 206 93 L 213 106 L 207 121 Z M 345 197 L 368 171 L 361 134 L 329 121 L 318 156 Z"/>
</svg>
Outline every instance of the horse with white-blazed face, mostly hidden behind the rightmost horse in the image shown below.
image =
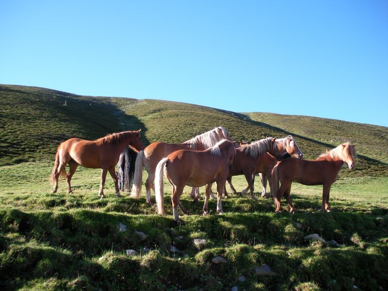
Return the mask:
<svg viewBox="0 0 388 291">
<path fill-rule="evenodd" d="M 276 139 L 276 143 L 278 145 L 278 148 L 280 152 L 283 153 L 283 159 L 289 158 L 291 156 L 299 159 L 303 159 L 303 152 L 300 150 L 299 146 L 296 144 L 295 139 L 289 135 L 285 138 L 279 138 Z M 267 192 L 267 180 L 269 180 L 269 183 L 271 185 L 271 177 L 272 177 L 272 169 L 277 164 L 277 160 L 268 156 L 268 154 L 265 155 L 266 157 L 263 157 L 262 161 L 258 162 L 258 170 L 256 173 L 259 173 L 261 184 L 263 185 L 263 189 L 261 191 L 261 197 L 265 198 L 266 192 Z M 255 176 L 252 177 L 253 182 L 255 183 Z M 229 183 L 229 181 L 228 181 Z M 229 184 L 230 185 L 230 184 Z M 249 190 L 249 186 L 246 187 L 244 190 L 242 190 L 242 194 L 247 193 Z M 273 191 L 271 191 L 271 196 L 274 196 L 275 194 Z"/>
</svg>

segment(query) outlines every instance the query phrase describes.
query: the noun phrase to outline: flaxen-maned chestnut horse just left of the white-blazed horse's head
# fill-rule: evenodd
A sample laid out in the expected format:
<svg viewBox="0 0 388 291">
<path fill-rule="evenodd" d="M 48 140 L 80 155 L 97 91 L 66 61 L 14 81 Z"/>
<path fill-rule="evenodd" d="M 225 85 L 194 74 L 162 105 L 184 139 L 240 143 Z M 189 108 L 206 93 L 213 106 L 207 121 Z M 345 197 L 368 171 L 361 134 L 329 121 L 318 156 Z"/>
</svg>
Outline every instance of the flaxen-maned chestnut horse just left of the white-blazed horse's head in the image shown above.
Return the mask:
<svg viewBox="0 0 388 291">
<path fill-rule="evenodd" d="M 250 197 L 254 200 L 258 200 L 253 194 L 252 176 L 257 173 L 258 165 L 264 154 L 268 154 L 273 158 L 275 157 L 274 159 L 277 159 L 278 161 L 282 159 L 282 152 L 279 150 L 278 144 L 279 143 L 276 142 L 275 138 L 267 137 L 250 145 L 236 148 L 236 155 L 233 159 L 232 168 L 227 178 L 233 193 L 237 194 L 236 189 L 234 189 L 231 183 L 232 176 L 244 175 L 248 182 L 248 188 L 250 189 Z"/>
</svg>

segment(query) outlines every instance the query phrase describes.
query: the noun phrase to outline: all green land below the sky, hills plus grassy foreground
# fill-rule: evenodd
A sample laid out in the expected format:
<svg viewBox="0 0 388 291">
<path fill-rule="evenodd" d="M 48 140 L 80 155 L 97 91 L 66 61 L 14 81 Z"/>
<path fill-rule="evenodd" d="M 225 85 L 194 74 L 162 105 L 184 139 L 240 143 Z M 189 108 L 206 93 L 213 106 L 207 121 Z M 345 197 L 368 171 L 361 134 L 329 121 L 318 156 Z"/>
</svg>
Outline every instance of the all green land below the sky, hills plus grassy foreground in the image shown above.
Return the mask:
<svg viewBox="0 0 388 291">
<path fill-rule="evenodd" d="M 105 184 L 107 198 L 99 200 L 99 169 L 77 169 L 72 179 L 75 194 L 66 194 L 64 180 L 58 193 L 51 194 L 55 151 L 70 137 L 96 139 L 142 129 L 146 145 L 174 143 L 216 126 L 224 126 L 236 141 L 292 134 L 307 158 L 350 140 L 357 143 L 356 170 L 341 170 L 330 193 L 330 213 L 319 211 L 321 186 L 293 184 L 295 214 L 275 214 L 269 199 L 231 195 L 223 199 L 224 215 L 215 213 L 216 201 L 210 200 L 208 216 L 202 216 L 202 201 L 192 202 L 186 189 L 181 202 L 190 215 L 180 213 L 180 226 L 172 219 L 166 181 L 165 216 L 145 203 L 144 189 L 140 200 L 117 198 L 111 178 Z M 312 291 L 388 286 L 382 271 L 388 269 L 387 128 L 0 85 L 0 130 L 1 290 Z M 145 178 L 146 173 L 143 182 Z M 241 191 L 246 181 L 234 177 L 233 184 Z M 120 224 L 127 229 L 120 231 Z M 338 244 L 304 239 L 314 233 Z M 199 238 L 207 241 L 201 249 L 194 245 Z M 128 249 L 138 254 L 129 257 Z M 214 256 L 226 261 L 214 264 Z M 257 274 L 263 264 L 276 275 Z"/>
</svg>

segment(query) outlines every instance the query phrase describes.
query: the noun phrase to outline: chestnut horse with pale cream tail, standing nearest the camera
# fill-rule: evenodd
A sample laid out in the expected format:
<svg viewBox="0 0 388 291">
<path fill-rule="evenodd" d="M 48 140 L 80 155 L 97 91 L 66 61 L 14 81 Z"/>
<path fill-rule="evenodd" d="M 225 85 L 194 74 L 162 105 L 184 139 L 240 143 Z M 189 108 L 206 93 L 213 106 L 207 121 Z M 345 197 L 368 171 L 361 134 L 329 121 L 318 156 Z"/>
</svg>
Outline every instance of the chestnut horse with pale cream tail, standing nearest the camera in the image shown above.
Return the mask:
<svg viewBox="0 0 388 291">
<path fill-rule="evenodd" d="M 187 212 L 179 199 L 185 185 L 191 187 L 206 186 L 204 215 L 208 214 L 208 201 L 211 183 L 217 183 L 217 212 L 223 213 L 221 198 L 226 178 L 233 162 L 235 148 L 233 143 L 222 140 L 204 151 L 177 150 L 162 159 L 156 167 L 155 197 L 159 214 L 164 214 L 163 172 L 173 188 L 171 201 L 174 220 L 180 223 L 178 206 Z"/>
</svg>

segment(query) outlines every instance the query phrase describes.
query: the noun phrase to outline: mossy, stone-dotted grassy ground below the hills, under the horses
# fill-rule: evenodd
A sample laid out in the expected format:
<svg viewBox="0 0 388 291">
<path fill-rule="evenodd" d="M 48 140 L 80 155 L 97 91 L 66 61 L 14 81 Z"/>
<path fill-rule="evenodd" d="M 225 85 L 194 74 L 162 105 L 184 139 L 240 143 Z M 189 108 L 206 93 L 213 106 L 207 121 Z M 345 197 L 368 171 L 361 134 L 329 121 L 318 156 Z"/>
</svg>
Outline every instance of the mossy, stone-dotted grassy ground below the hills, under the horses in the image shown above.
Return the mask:
<svg viewBox="0 0 388 291">
<path fill-rule="evenodd" d="M 5 289 L 379 290 L 388 284 L 381 272 L 388 268 L 388 201 L 382 195 L 387 178 L 339 180 L 331 213 L 319 211 L 320 187 L 294 184 L 295 214 L 275 214 L 270 199 L 232 197 L 223 200 L 224 215 L 215 214 L 211 200 L 210 215 L 202 216 L 203 202 L 192 202 L 187 188 L 182 203 L 190 215 L 181 214 L 184 223 L 178 226 L 166 183 L 167 214 L 160 216 L 146 204 L 144 192 L 140 200 L 117 198 L 111 179 L 107 198 L 99 200 L 99 170 L 80 167 L 72 181 L 75 194 L 66 194 L 64 180 L 51 194 L 51 165 L 2 167 L 0 282 Z M 240 190 L 246 185 L 242 177 L 233 183 Z M 120 232 L 119 223 L 127 230 Z M 146 240 L 135 230 L 146 233 Z M 304 236 L 312 233 L 343 246 L 306 242 Z M 208 241 L 203 250 L 196 249 L 195 238 Z M 170 252 L 171 245 L 178 251 Z M 143 253 L 145 247 L 151 251 Z M 127 257 L 126 249 L 139 254 Z M 211 263 L 215 255 L 227 263 Z M 261 264 L 278 275 L 255 275 Z"/>
</svg>

